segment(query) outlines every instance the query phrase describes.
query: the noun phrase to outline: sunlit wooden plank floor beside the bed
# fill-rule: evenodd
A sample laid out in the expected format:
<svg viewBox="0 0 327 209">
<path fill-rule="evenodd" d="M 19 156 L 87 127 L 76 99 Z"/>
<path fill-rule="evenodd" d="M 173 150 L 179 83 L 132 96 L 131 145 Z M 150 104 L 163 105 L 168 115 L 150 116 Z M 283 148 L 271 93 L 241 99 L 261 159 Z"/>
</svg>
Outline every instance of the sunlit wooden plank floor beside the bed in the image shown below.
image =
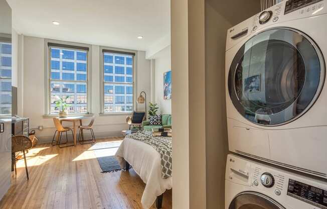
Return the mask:
<svg viewBox="0 0 327 209">
<path fill-rule="evenodd" d="M 118 141 L 110 138 L 100 141 Z M 142 208 L 145 184 L 133 169 L 101 173 L 89 144 L 57 148 L 38 145 L 27 155 L 30 180 L 24 160 L 17 162 L 12 186 L 0 208 Z M 172 208 L 172 192 L 166 191 L 162 208 Z M 152 205 L 151 208 L 155 208 Z"/>
</svg>

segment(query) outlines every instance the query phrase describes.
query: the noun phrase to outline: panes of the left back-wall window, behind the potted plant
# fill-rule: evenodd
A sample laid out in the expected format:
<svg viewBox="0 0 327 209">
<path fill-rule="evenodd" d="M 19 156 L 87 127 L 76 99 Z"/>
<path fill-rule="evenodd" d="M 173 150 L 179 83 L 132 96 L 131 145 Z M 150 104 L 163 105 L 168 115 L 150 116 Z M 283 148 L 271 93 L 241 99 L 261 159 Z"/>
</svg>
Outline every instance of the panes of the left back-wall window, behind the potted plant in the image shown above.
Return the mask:
<svg viewBox="0 0 327 209">
<path fill-rule="evenodd" d="M 49 113 L 56 114 L 57 97 L 66 98 L 68 113 L 88 113 L 88 50 L 49 45 Z"/>
</svg>

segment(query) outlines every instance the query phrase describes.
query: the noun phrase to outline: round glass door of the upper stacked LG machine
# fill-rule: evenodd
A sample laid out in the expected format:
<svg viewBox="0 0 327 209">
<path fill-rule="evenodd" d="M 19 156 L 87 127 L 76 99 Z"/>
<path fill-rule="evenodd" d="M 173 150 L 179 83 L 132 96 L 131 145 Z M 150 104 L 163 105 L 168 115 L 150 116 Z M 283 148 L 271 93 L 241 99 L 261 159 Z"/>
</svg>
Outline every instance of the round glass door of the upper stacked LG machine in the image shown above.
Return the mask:
<svg viewBox="0 0 327 209">
<path fill-rule="evenodd" d="M 323 86 L 324 61 L 305 34 L 276 28 L 248 40 L 235 55 L 228 89 L 237 111 L 247 120 L 277 126 L 304 114 Z"/>
</svg>

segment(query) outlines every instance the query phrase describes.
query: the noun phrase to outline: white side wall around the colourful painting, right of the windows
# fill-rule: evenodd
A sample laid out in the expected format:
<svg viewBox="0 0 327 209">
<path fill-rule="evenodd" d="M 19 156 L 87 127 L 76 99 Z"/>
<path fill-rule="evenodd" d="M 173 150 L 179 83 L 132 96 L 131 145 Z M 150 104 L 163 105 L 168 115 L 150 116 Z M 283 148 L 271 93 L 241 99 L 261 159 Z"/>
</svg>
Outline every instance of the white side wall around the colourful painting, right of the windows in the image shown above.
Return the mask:
<svg viewBox="0 0 327 209">
<path fill-rule="evenodd" d="M 172 114 L 172 99 L 164 99 L 164 73 L 172 69 L 171 46 L 156 53 L 152 59 L 154 60 L 154 102 L 158 104 L 160 114 Z"/>
</svg>

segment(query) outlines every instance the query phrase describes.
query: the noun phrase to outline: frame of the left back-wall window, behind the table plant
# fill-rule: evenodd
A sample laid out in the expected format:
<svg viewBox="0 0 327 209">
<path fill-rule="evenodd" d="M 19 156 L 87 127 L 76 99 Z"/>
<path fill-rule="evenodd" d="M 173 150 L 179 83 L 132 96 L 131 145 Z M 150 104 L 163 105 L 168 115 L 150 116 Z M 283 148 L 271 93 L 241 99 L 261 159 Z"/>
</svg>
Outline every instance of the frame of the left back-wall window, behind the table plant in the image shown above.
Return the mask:
<svg viewBox="0 0 327 209">
<path fill-rule="evenodd" d="M 52 39 L 45 39 L 45 110 L 44 110 L 44 118 L 52 118 L 57 117 L 59 114 L 51 113 L 51 46 L 48 46 L 49 43 L 56 44 L 58 46 L 53 46 L 54 48 L 61 48 L 67 50 L 79 50 L 73 47 L 86 47 L 88 50 L 86 51 L 86 62 L 87 62 L 87 69 L 86 69 L 86 81 L 81 80 L 64 80 L 64 82 L 72 82 L 78 84 L 79 82 L 86 83 L 86 99 L 87 99 L 87 112 L 86 113 L 69 113 L 71 116 L 93 116 L 92 114 L 92 46 L 88 44 L 81 44 L 81 43 L 73 43 L 73 42 L 66 42 L 66 41 L 58 41 Z M 81 50 L 83 51 L 83 50 Z M 77 67 L 77 66 L 76 66 Z M 77 75 L 76 75 L 77 76 Z M 54 80 L 56 81 L 56 80 Z M 59 81 L 59 80 L 58 80 Z M 77 88 L 77 87 L 76 87 Z M 75 89 L 76 91 L 77 89 Z"/>
</svg>

